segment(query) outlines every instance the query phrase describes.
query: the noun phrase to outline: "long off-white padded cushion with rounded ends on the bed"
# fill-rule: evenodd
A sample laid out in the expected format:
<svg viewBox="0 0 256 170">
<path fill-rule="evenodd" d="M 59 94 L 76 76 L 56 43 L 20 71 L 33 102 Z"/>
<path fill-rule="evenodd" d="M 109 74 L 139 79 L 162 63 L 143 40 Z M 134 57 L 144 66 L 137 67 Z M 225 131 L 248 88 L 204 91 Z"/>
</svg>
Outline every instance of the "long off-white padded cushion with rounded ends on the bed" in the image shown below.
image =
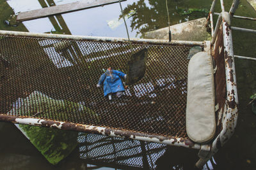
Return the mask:
<svg viewBox="0 0 256 170">
<path fill-rule="evenodd" d="M 210 141 L 216 131 L 214 71 L 207 52 L 189 60 L 186 131 L 196 143 Z"/>
</svg>

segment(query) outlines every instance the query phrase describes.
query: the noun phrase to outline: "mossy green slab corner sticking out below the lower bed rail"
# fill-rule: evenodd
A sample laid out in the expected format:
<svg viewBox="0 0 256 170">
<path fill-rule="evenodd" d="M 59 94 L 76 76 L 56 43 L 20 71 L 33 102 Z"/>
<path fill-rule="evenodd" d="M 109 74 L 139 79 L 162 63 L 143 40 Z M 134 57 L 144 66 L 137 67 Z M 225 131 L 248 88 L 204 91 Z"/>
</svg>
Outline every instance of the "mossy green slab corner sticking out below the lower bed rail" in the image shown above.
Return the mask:
<svg viewBox="0 0 256 170">
<path fill-rule="evenodd" d="M 77 146 L 78 132 L 19 125 L 31 143 L 51 164 L 58 164 Z"/>
</svg>

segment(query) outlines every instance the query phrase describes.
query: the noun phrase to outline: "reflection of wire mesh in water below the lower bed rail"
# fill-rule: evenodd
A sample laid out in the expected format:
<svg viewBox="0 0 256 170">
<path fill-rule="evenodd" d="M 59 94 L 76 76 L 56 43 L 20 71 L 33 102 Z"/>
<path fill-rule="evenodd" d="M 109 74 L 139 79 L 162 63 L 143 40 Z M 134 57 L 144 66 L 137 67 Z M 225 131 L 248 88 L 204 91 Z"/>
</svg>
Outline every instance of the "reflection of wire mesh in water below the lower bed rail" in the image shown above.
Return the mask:
<svg viewBox="0 0 256 170">
<path fill-rule="evenodd" d="M 120 169 L 156 169 L 157 159 L 166 151 L 164 144 L 97 134 L 79 133 L 77 141 L 81 159 L 91 164 L 100 163 Z"/>
</svg>

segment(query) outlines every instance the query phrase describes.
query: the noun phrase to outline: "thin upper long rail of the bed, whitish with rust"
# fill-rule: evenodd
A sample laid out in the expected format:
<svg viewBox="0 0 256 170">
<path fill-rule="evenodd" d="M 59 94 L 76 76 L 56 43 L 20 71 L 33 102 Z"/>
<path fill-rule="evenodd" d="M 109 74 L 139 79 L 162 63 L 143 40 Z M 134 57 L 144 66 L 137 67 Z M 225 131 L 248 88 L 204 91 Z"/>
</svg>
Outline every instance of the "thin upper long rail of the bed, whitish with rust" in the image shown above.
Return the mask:
<svg viewBox="0 0 256 170">
<path fill-rule="evenodd" d="M 98 36 L 74 36 L 64 34 L 44 34 L 33 32 L 19 32 L 19 31 L 0 31 L 0 35 L 3 36 L 27 36 L 33 38 L 54 38 L 54 39 L 71 39 L 71 40 L 89 40 L 89 41 L 106 41 L 106 42 L 120 42 L 120 43 L 143 43 L 143 44 L 159 44 L 159 45 L 184 45 L 184 46 L 204 46 L 204 41 L 171 41 L 164 39 L 139 39 L 131 38 L 131 41 L 127 38 L 110 38 L 110 37 L 98 37 Z"/>
</svg>

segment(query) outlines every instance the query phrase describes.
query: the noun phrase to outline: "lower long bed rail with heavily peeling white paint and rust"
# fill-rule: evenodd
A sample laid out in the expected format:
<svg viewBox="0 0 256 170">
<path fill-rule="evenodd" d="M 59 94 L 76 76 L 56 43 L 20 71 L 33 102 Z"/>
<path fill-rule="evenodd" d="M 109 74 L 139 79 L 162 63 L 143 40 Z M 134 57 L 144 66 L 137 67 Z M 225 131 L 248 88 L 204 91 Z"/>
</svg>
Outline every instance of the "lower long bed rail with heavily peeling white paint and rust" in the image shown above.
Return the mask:
<svg viewBox="0 0 256 170">
<path fill-rule="evenodd" d="M 80 131 L 80 132 L 86 132 L 86 133 L 101 134 L 106 136 L 136 139 L 140 141 L 163 143 L 166 145 L 183 146 L 186 148 L 194 148 L 194 149 L 201 148 L 201 145 L 194 143 L 190 139 L 175 138 L 175 137 L 168 137 L 168 136 L 157 136 L 154 134 L 145 134 L 141 132 L 132 132 L 132 131 L 125 131 L 125 130 L 121 131 L 117 129 L 97 127 L 93 125 L 74 124 L 70 122 L 58 122 L 58 121 L 44 120 L 40 118 L 31 118 L 31 117 L 17 117 L 17 116 L 6 115 L 6 114 L 0 114 L 0 121 L 10 122 L 13 124 L 52 127 L 52 128 L 61 129 L 61 130 Z M 203 145 L 203 146 L 208 146 L 208 145 Z"/>
</svg>

